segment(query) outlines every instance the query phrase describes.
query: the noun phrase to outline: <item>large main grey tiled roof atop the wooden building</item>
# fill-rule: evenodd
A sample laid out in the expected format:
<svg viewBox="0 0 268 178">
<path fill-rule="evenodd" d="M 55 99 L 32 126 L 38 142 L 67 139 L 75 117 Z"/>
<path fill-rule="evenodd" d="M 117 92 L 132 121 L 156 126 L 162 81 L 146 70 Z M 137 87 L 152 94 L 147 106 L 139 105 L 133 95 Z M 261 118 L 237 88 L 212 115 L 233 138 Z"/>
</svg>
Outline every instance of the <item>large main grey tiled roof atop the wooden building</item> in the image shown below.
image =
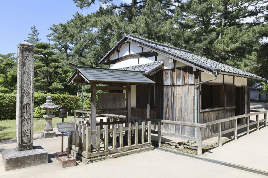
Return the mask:
<svg viewBox="0 0 268 178">
<path fill-rule="evenodd" d="M 156 49 L 156 50 L 161 51 L 163 53 L 178 57 L 178 58 L 180 58 L 182 60 L 185 60 L 185 61 L 187 61 L 189 63 L 195 64 L 195 65 L 197 65 L 197 66 L 199 66 L 199 67 L 201 67 L 203 69 L 207 69 L 207 70 L 210 70 L 210 71 L 214 71 L 216 69 L 219 69 L 220 73 L 221 72 L 222 73 L 230 73 L 230 74 L 242 75 L 242 76 L 245 76 L 245 77 L 253 77 L 255 79 L 265 80 L 264 78 L 259 77 L 257 75 L 254 75 L 252 73 L 242 71 L 240 69 L 236 69 L 236 68 L 234 68 L 232 66 L 228 66 L 226 64 L 222 64 L 222 63 L 216 62 L 214 60 L 210 60 L 210 59 L 207 59 L 207 58 L 204 58 L 204 57 L 201 57 L 201 56 L 197 56 L 197 55 L 193 54 L 191 51 L 184 50 L 184 49 L 181 49 L 181 48 L 175 48 L 175 47 L 172 47 L 172 46 L 168 46 L 166 44 L 161 44 L 161 43 L 154 42 L 154 41 L 151 41 L 151 40 L 147 40 L 147 39 L 144 39 L 144 38 L 140 38 L 140 37 L 134 36 L 134 35 L 124 35 L 124 38 L 122 38 L 114 46 L 114 48 L 112 48 L 100 60 L 99 63 L 104 62 L 104 60 L 111 55 L 111 53 L 114 51 L 114 49 L 117 48 L 122 43 L 123 40 L 125 41 L 127 39 L 135 41 L 136 43 L 139 43 L 139 44 L 143 44 L 143 45 L 145 45 L 145 46 L 147 46 L 149 48 Z"/>
</svg>

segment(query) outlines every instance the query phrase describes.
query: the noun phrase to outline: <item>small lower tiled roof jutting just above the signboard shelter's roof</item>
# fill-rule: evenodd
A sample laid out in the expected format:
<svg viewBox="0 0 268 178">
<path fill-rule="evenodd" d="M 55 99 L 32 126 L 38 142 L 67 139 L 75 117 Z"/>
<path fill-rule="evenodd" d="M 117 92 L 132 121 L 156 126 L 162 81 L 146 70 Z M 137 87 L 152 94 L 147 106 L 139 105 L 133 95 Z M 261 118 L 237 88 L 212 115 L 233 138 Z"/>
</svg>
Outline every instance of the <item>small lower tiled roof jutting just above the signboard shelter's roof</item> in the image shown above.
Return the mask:
<svg viewBox="0 0 268 178">
<path fill-rule="evenodd" d="M 145 74 L 150 74 L 152 72 L 157 71 L 158 69 L 162 69 L 162 67 L 164 66 L 163 61 L 155 61 L 155 62 L 151 62 L 148 64 L 139 64 L 139 65 L 135 65 L 135 66 L 130 66 L 130 67 L 123 67 L 120 68 L 122 70 L 127 70 L 127 71 L 145 71 Z"/>
</svg>

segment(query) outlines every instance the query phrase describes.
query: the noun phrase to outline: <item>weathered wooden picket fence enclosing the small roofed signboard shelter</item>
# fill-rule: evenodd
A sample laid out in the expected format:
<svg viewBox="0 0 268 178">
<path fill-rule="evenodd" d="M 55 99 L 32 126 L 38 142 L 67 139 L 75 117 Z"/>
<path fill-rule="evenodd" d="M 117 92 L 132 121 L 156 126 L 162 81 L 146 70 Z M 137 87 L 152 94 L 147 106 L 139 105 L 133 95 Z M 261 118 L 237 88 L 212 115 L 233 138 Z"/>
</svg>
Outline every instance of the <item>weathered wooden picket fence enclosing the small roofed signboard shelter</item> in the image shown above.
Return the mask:
<svg viewBox="0 0 268 178">
<path fill-rule="evenodd" d="M 118 127 L 113 124 L 112 128 L 110 128 L 110 124 L 115 122 L 110 122 L 109 125 L 103 125 L 104 122 L 100 123 L 99 126 L 96 126 L 96 130 L 91 130 L 90 126 L 87 126 L 86 123 L 82 124 L 82 121 L 76 123 L 76 132 L 73 132 L 73 150 L 86 159 L 151 146 L 151 122 L 148 124 L 142 122 L 141 125 L 135 123 L 133 126 L 128 124 L 126 127 L 123 127 L 123 124 L 118 124 Z M 141 135 L 138 133 L 139 130 L 141 130 Z M 125 131 L 125 139 L 123 139 L 123 131 Z M 119 134 L 119 148 L 116 146 L 117 133 Z M 96 135 L 96 144 L 92 142 L 92 138 L 94 138 L 92 135 Z M 133 143 L 131 142 L 132 137 Z M 104 138 L 104 148 L 101 149 L 100 139 L 102 138 Z M 109 148 L 109 140 L 112 141 L 112 148 Z"/>
</svg>

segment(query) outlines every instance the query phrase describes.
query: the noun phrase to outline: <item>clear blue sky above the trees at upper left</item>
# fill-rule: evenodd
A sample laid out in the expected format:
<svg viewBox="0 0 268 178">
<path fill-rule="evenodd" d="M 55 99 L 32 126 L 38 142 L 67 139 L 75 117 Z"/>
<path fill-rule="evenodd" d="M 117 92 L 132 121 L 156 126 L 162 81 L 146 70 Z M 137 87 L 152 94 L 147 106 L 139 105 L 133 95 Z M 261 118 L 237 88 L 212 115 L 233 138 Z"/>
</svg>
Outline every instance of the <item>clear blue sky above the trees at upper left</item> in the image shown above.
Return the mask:
<svg viewBox="0 0 268 178">
<path fill-rule="evenodd" d="M 123 0 L 129 2 L 130 0 Z M 123 2 L 122 1 L 122 2 Z M 115 0 L 113 3 L 119 3 Z M 131 1 L 130 1 L 131 2 Z M 47 42 L 47 30 L 53 24 L 65 23 L 77 11 L 96 11 L 99 2 L 81 10 L 73 0 L 2 0 L 0 5 L 0 53 L 17 53 L 19 43 L 27 39 L 31 26 L 36 26 L 41 42 Z"/>
</svg>

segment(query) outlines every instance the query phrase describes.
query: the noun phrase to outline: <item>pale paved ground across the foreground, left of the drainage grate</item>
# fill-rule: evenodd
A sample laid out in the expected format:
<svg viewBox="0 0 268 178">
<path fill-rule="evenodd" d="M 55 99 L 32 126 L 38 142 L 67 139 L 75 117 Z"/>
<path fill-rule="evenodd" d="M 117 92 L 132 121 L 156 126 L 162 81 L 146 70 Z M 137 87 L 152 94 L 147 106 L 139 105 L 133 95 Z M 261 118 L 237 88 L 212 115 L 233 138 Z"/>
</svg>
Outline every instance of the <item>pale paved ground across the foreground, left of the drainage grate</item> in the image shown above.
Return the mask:
<svg viewBox="0 0 268 178">
<path fill-rule="evenodd" d="M 268 131 L 268 129 L 266 129 Z M 264 131 L 264 129 L 263 129 Z M 217 165 L 189 157 L 152 150 L 115 159 L 106 159 L 90 164 L 78 163 L 75 167 L 61 168 L 55 158 L 55 152 L 61 150 L 61 137 L 42 139 L 41 134 L 34 134 L 34 145 L 41 145 L 48 151 L 48 164 L 12 171 L 4 171 L 0 162 L 0 178 L 9 177 L 261 177 L 262 175 L 239 169 Z M 257 132 L 256 132 L 257 133 Z M 253 136 L 255 133 L 251 134 Z M 65 137 L 66 140 L 66 137 Z M 241 138 L 238 140 L 242 140 Z M 228 144 L 232 144 L 231 142 Z M 222 146 L 226 148 L 228 144 Z M 65 142 L 65 146 L 66 142 Z M 15 140 L 0 142 L 2 149 L 14 148 Z M 261 150 L 260 148 L 257 148 Z M 240 152 L 240 150 L 238 151 Z M 216 152 L 215 152 L 216 153 Z M 257 151 L 256 153 L 261 153 Z M 260 156 L 265 154 L 261 153 Z M 212 154 L 210 154 L 212 155 Z M 216 154 L 215 154 L 216 155 Z M 217 157 L 216 157 L 217 158 Z M 263 159 L 264 160 L 264 159 Z M 248 160 L 250 161 L 250 159 Z M 248 162 L 247 161 L 247 162 Z M 254 160 L 255 161 L 255 160 Z M 230 162 L 230 161 L 229 161 Z M 263 163 L 259 163 L 263 164 Z M 264 165 L 267 165 L 264 163 Z M 263 166 L 264 166 L 263 165 Z M 216 170 L 216 171 L 215 171 Z M 264 176 L 263 176 L 264 177 Z"/>
</svg>

